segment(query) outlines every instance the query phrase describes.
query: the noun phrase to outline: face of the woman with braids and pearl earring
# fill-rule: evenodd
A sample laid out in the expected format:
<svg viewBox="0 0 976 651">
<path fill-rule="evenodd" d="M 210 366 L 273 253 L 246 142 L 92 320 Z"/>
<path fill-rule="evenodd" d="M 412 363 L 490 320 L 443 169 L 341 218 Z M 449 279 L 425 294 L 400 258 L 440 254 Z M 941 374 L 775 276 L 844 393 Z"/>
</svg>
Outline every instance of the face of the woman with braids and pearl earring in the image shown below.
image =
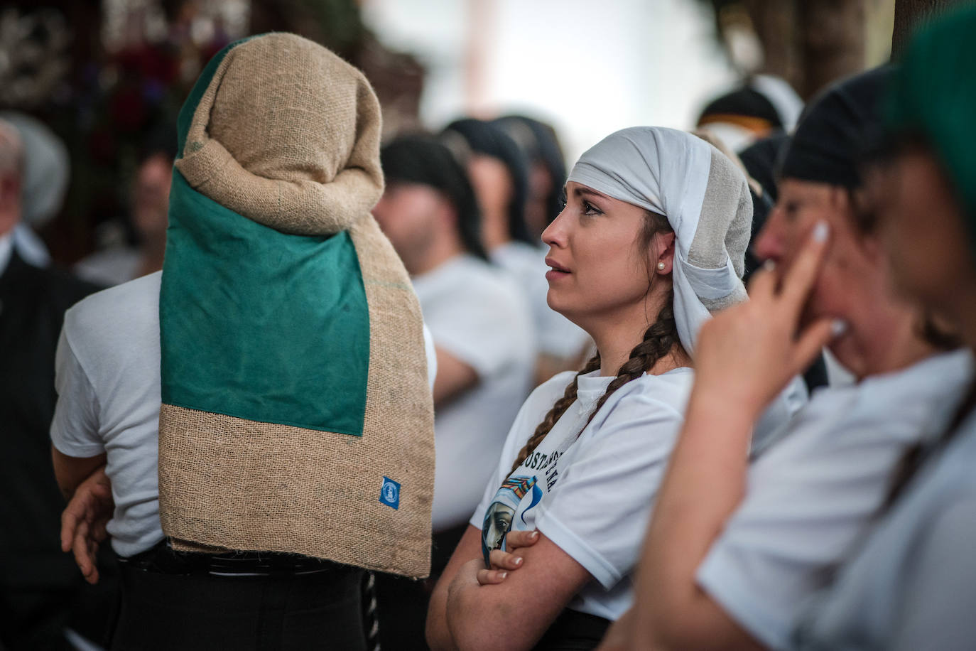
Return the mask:
<svg viewBox="0 0 976 651">
<path fill-rule="evenodd" d="M 653 320 L 660 307 L 644 309 L 651 278 L 674 235 L 659 233 L 644 246 L 648 219 L 643 208 L 580 183 L 566 183 L 566 207 L 543 232 L 549 245 L 549 307 L 585 330 L 595 320 L 627 318 L 630 313 L 648 311 Z M 670 272 L 669 259 L 663 273 Z"/>
</svg>

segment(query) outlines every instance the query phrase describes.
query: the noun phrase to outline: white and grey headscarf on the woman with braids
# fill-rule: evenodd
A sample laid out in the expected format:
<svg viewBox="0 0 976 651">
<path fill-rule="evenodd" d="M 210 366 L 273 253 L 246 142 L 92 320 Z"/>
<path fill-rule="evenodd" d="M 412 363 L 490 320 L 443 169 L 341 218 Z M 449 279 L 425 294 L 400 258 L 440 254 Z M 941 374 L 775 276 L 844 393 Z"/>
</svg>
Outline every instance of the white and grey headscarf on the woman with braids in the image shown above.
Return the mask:
<svg viewBox="0 0 976 651">
<path fill-rule="evenodd" d="M 749 185 L 711 144 L 683 131 L 631 127 L 590 147 L 568 181 L 668 218 L 674 230 L 674 319 L 692 353 L 715 310 L 746 299 Z"/>
</svg>

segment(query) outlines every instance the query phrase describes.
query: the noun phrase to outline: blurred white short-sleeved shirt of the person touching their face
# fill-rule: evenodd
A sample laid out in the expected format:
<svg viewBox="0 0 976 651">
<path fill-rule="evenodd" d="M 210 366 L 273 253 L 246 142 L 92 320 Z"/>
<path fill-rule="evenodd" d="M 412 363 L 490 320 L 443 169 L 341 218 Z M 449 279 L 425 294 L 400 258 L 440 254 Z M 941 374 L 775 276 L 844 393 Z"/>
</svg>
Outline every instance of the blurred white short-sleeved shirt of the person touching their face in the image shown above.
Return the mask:
<svg viewBox="0 0 976 651">
<path fill-rule="evenodd" d="M 752 464 L 698 584 L 764 645 L 786 648 L 803 602 L 864 535 L 905 451 L 971 376 L 969 353 L 958 351 L 818 390 Z"/>
</svg>

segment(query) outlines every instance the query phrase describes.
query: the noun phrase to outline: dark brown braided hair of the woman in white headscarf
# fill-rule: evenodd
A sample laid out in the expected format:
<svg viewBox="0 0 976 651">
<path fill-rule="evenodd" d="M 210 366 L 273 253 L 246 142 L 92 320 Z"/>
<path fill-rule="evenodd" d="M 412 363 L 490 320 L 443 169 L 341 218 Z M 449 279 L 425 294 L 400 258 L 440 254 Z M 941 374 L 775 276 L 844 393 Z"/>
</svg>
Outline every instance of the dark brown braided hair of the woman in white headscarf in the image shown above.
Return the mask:
<svg viewBox="0 0 976 651">
<path fill-rule="evenodd" d="M 663 215 L 657 215 L 656 213 L 651 213 L 648 211 L 648 219 L 644 222 L 643 232 L 640 236 L 640 242 L 643 248 L 646 248 L 650 244 L 651 238 L 658 232 L 670 231 L 671 224 L 668 223 L 668 218 Z M 648 288 L 647 291 L 650 293 L 650 273 L 648 273 Z M 593 411 L 590 412 L 590 418 L 587 419 L 586 425 L 577 433 L 583 433 L 583 429 L 586 429 L 596 416 L 596 412 L 600 410 L 600 407 L 610 398 L 614 392 L 626 385 L 627 383 L 636 380 L 645 371 L 649 371 L 654 368 L 658 360 L 666 356 L 671 352 L 671 348 L 675 344 L 680 344 L 677 335 L 677 325 L 674 321 L 674 290 L 668 293 L 665 297 L 664 305 L 658 312 L 658 317 L 652 323 L 647 330 L 644 331 L 644 337 L 641 339 L 640 344 L 633 346 L 630 350 L 630 357 L 624 364 L 621 365 L 620 370 L 617 371 L 617 377 L 607 386 L 603 395 L 600 396 L 599 400 L 596 401 L 596 406 L 593 407 Z M 595 355 L 590 357 L 590 360 L 584 365 L 579 373 L 573 378 L 569 386 L 563 392 L 562 397 L 555 401 L 552 408 L 549 409 L 549 413 L 546 414 L 546 418 L 543 422 L 536 427 L 532 436 L 529 440 L 525 442 L 522 449 L 519 450 L 518 456 L 515 458 L 515 462 L 511 465 L 511 470 L 509 472 L 514 472 L 515 468 L 522 465 L 529 455 L 535 451 L 539 444 L 543 442 L 549 430 L 555 426 L 556 422 L 562 417 L 562 415 L 569 409 L 570 405 L 576 402 L 576 392 L 578 387 L 578 380 L 580 376 L 586 375 L 587 373 L 592 373 L 600 367 L 600 353 L 597 352 Z"/>
</svg>

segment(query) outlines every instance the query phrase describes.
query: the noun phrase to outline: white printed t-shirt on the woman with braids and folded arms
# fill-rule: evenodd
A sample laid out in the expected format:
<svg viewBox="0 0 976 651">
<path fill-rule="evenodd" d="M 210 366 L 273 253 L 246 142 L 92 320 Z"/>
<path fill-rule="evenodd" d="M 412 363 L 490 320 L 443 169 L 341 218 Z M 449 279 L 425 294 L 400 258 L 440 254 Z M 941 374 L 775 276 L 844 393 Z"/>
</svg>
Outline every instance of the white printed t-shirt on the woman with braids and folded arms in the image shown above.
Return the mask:
<svg viewBox="0 0 976 651">
<path fill-rule="evenodd" d="M 532 392 L 470 523 L 491 547 L 509 527 L 539 529 L 593 576 L 569 607 L 613 621 L 633 600 L 631 571 L 695 376 L 690 368 L 645 374 L 617 389 L 580 433 L 613 380 L 597 373 L 579 379 L 576 402 L 510 472 L 575 374 L 560 373 Z"/>
</svg>

